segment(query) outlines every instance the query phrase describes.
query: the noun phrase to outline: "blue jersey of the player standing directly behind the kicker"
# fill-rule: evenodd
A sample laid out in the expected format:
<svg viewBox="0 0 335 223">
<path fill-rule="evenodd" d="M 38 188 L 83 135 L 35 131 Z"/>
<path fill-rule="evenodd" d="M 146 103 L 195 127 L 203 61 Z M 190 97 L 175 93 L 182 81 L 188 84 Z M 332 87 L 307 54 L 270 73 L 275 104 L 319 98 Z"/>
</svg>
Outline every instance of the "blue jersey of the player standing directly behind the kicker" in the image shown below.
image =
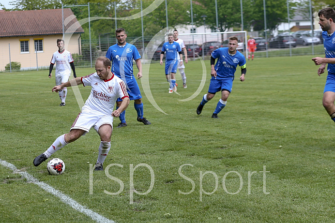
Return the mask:
<svg viewBox="0 0 335 223">
<path fill-rule="evenodd" d="M 133 79 L 133 59 L 141 58 L 135 45 L 112 45 L 108 48 L 106 57 L 112 61 L 111 71 L 122 80 Z"/>
</svg>

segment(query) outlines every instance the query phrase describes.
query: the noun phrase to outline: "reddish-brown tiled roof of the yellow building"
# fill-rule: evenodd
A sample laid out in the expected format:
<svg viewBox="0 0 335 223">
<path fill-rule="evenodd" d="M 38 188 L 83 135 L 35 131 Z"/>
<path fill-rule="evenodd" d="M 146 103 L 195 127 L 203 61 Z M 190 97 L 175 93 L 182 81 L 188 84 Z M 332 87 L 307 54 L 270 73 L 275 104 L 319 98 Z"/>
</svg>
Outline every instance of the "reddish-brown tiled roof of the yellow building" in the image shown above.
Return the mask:
<svg viewBox="0 0 335 223">
<path fill-rule="evenodd" d="M 77 22 L 72 10 L 64 10 L 64 31 L 73 30 L 83 33 L 83 28 Z M 62 34 L 61 9 L 2 11 L 0 10 L 0 37 L 35 36 Z M 68 22 L 68 20 L 70 20 Z M 68 30 L 75 24 L 71 30 Z"/>
</svg>

